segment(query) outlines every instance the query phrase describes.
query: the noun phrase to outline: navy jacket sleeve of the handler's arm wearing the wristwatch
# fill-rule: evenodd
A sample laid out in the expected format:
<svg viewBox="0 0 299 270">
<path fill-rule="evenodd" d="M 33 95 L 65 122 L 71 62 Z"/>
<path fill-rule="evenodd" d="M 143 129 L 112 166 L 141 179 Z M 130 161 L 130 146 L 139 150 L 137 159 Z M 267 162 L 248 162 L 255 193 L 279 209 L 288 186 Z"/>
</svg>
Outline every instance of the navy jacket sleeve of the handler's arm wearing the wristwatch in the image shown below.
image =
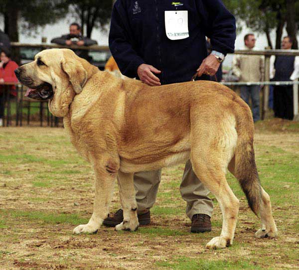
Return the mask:
<svg viewBox="0 0 299 270">
<path fill-rule="evenodd" d="M 197 0 L 205 35 L 211 39 L 213 50 L 226 55 L 233 53 L 236 40 L 236 19 L 221 0 Z"/>
</svg>

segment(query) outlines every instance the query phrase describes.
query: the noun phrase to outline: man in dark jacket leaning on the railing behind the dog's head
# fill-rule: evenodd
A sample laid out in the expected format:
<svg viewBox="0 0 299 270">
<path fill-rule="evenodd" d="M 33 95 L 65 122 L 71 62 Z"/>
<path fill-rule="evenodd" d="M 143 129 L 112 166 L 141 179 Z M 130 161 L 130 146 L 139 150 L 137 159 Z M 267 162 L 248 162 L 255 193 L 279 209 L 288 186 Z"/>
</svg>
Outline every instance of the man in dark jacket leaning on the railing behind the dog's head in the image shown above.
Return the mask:
<svg viewBox="0 0 299 270">
<path fill-rule="evenodd" d="M 52 43 L 57 43 L 60 45 L 78 45 L 78 46 L 90 46 L 98 44 L 97 41 L 92 40 L 81 34 L 81 26 L 74 22 L 70 25 L 70 33 L 62 35 L 61 37 L 56 37 L 51 40 Z M 89 60 L 87 50 L 73 49 L 73 51 L 79 56 L 86 60 Z"/>
</svg>

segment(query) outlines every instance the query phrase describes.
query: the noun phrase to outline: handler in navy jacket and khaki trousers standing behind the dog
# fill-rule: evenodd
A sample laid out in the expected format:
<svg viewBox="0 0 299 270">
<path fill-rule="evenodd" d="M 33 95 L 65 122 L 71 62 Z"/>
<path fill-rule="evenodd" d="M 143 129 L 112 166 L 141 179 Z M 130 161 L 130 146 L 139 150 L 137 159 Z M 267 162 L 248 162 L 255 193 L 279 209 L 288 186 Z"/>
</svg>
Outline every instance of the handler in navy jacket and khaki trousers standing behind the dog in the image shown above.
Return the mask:
<svg viewBox="0 0 299 270">
<path fill-rule="evenodd" d="M 210 55 L 205 36 L 213 47 Z M 109 46 L 122 74 L 159 86 L 190 81 L 195 72 L 201 80 L 208 80 L 225 55 L 234 52 L 235 39 L 235 18 L 221 0 L 117 0 Z M 160 179 L 161 170 L 134 175 L 141 225 L 150 222 L 149 209 L 156 200 Z M 191 232 L 211 231 L 213 203 L 190 160 L 185 165 L 180 192 L 192 220 Z M 122 221 L 120 209 L 103 224 L 116 226 Z"/>
</svg>

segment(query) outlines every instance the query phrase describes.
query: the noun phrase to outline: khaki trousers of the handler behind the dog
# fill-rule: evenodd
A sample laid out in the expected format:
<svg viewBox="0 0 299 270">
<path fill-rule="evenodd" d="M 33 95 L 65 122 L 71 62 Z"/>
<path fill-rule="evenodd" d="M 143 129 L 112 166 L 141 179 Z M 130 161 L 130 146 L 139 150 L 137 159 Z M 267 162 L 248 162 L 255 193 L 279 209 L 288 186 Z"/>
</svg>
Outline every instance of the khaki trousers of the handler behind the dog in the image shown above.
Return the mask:
<svg viewBox="0 0 299 270">
<path fill-rule="evenodd" d="M 161 180 L 161 169 L 156 171 L 143 171 L 134 174 L 134 185 L 138 214 L 146 213 L 153 206 L 159 183 Z M 186 214 L 192 219 L 194 214 L 206 214 L 211 217 L 213 202 L 208 197 L 210 193 L 193 172 L 190 160 L 186 162 L 180 193 L 187 202 Z"/>
</svg>

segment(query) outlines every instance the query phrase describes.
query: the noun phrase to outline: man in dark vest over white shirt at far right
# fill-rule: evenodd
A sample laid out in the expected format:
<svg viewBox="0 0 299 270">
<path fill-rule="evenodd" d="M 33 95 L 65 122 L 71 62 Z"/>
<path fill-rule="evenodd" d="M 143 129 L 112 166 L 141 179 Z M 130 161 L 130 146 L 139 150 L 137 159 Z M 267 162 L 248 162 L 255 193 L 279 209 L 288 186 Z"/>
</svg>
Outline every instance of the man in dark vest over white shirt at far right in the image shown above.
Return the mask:
<svg viewBox="0 0 299 270">
<path fill-rule="evenodd" d="M 282 42 L 283 50 L 290 50 L 293 41 L 285 36 Z M 274 60 L 275 59 L 275 60 Z M 271 79 L 273 81 L 294 81 L 299 78 L 299 56 L 278 55 L 271 58 Z M 276 85 L 273 90 L 273 110 L 277 118 L 293 120 L 293 86 Z"/>
</svg>

